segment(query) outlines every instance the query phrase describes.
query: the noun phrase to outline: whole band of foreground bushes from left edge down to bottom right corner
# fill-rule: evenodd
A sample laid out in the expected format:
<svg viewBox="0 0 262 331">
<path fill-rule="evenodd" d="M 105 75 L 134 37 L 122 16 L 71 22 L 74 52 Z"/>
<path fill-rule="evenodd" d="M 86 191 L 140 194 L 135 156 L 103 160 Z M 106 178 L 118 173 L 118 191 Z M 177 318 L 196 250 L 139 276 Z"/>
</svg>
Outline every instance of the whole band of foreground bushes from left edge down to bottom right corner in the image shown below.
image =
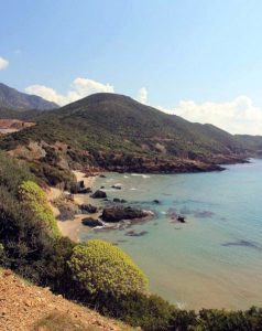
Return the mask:
<svg viewBox="0 0 262 331">
<path fill-rule="evenodd" d="M 203 309 L 197 313 L 178 310 L 162 298 L 146 293 L 144 274 L 121 249 L 101 241 L 75 244 L 58 234 L 39 184 L 41 180 L 24 162 L 0 152 L 2 267 L 143 330 L 262 330 L 259 308 Z M 46 317 L 41 325 L 52 328 L 55 321 L 61 321 L 61 317 Z M 69 320 L 65 322 L 70 324 Z"/>
</svg>

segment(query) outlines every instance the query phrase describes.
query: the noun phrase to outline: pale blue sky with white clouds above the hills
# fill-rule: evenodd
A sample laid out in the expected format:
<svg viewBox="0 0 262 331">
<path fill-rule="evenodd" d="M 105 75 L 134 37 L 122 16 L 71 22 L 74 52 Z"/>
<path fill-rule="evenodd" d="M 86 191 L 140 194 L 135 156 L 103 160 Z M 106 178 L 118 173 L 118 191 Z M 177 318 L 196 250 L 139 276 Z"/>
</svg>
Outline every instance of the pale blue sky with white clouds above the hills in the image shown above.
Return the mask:
<svg viewBox="0 0 262 331">
<path fill-rule="evenodd" d="M 261 0 L 0 0 L 0 82 L 262 135 Z"/>
</svg>

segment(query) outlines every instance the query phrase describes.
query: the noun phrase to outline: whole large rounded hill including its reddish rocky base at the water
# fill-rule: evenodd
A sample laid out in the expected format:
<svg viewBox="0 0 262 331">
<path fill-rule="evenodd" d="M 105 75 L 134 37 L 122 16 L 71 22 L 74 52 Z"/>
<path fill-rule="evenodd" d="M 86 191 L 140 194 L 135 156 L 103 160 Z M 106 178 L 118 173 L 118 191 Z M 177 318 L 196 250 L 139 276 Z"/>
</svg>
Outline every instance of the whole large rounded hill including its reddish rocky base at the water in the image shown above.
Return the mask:
<svg viewBox="0 0 262 331">
<path fill-rule="evenodd" d="M 244 145 L 234 136 L 123 95 L 100 93 L 52 111 L 23 115 L 36 126 L 3 137 L 0 147 L 33 162 L 36 174 L 51 172 L 50 168 L 43 170 L 47 166 L 59 171 L 79 167 L 134 172 L 208 171 L 247 157 Z"/>
</svg>

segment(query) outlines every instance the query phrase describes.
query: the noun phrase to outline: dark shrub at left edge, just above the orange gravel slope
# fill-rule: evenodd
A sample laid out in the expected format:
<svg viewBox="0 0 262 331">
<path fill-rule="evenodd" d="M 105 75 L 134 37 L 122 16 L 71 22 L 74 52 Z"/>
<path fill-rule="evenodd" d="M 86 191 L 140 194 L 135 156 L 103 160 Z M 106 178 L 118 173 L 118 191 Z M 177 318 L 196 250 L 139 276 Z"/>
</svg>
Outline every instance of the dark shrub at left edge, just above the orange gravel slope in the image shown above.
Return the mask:
<svg viewBox="0 0 262 331">
<path fill-rule="evenodd" d="M 4 246 L 2 265 L 39 282 L 45 271 L 52 239 L 43 222 L 23 209 L 3 186 L 0 186 L 0 243 Z"/>
</svg>

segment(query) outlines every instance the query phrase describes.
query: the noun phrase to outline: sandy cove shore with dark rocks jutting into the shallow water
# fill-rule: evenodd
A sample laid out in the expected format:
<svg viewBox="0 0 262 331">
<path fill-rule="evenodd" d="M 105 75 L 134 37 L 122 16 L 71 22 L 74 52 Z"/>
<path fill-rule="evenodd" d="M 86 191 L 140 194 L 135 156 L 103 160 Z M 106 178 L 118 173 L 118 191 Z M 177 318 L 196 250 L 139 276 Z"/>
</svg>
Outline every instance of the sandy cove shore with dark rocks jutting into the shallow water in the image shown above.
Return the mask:
<svg viewBox="0 0 262 331">
<path fill-rule="evenodd" d="M 122 223 L 123 226 L 125 221 L 134 222 L 154 216 L 151 211 L 128 205 L 123 199 L 109 201 L 102 189 L 92 192 L 96 177 L 80 171 L 74 171 L 74 174 L 77 182 L 69 192 L 52 188 L 48 194 L 61 232 L 73 241 L 79 241 L 81 226 L 110 228 L 116 227 L 118 223 Z"/>
</svg>

